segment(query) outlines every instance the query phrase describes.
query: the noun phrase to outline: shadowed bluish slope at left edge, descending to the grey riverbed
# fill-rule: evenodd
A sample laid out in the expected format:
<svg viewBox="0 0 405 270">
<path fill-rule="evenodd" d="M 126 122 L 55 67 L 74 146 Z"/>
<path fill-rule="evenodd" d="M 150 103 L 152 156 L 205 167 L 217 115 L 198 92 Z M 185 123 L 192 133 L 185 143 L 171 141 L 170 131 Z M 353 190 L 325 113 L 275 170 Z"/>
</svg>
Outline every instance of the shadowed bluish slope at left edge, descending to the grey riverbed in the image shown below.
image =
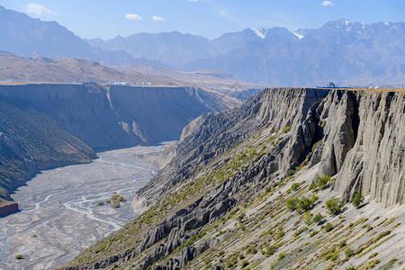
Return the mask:
<svg viewBox="0 0 405 270">
<path fill-rule="evenodd" d="M 10 193 L 43 169 L 89 163 L 92 148 L 60 129 L 27 100 L 0 96 L 0 206 Z M 14 204 L 15 205 L 15 204 Z M 17 209 L 9 209 L 6 214 Z"/>
</svg>

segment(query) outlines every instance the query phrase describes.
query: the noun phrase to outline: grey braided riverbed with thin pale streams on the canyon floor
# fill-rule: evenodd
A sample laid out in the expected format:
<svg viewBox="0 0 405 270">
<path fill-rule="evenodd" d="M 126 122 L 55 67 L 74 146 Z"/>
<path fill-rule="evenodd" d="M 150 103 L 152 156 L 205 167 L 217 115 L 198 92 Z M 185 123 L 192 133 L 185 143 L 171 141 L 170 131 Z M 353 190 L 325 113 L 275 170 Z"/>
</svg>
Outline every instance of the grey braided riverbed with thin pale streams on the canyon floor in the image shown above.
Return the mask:
<svg viewBox="0 0 405 270">
<path fill-rule="evenodd" d="M 0 269 L 62 266 L 135 218 L 133 195 L 159 167 L 131 155 L 162 148 L 111 150 L 90 164 L 40 172 L 12 195 L 21 211 L 0 218 Z M 127 200 L 120 208 L 105 203 L 114 193 Z"/>
</svg>

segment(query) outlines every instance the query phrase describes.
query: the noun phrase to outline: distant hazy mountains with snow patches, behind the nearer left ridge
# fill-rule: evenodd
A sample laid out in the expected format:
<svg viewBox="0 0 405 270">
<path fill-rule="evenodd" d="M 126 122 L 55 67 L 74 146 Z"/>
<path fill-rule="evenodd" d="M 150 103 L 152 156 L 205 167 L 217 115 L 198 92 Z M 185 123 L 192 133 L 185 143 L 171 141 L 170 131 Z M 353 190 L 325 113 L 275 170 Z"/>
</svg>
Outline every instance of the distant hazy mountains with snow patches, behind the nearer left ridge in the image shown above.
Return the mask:
<svg viewBox="0 0 405 270">
<path fill-rule="evenodd" d="M 215 40 L 172 32 L 87 41 L 169 67 L 222 69 L 238 79 L 263 84 L 314 85 L 329 80 L 353 84 L 355 79 L 359 84 L 370 79 L 382 83 L 389 76 L 397 76 L 401 82 L 405 76 L 404 40 L 405 23 L 340 20 L 298 31 L 246 29 Z M 394 65 L 400 65 L 399 70 L 383 72 Z"/>
</svg>

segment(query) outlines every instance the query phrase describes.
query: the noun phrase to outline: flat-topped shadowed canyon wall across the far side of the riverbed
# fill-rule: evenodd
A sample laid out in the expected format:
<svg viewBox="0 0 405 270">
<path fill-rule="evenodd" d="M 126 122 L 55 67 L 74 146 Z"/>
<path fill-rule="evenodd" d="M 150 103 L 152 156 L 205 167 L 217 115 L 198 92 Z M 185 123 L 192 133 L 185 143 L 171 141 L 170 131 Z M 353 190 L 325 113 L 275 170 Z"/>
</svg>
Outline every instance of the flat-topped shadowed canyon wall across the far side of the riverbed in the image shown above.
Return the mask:
<svg viewBox="0 0 405 270">
<path fill-rule="evenodd" d="M 31 103 L 92 148 L 176 140 L 202 113 L 240 104 L 217 92 L 188 87 L 0 85 L 0 96 Z"/>
</svg>

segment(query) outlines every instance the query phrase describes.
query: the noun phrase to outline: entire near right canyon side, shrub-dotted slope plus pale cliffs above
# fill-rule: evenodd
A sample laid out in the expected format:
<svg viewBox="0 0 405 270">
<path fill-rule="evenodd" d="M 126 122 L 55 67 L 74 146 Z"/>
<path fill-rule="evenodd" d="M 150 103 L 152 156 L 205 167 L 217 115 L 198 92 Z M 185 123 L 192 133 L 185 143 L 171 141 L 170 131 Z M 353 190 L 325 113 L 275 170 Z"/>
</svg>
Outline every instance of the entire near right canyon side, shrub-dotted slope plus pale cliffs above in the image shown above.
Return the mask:
<svg viewBox="0 0 405 270">
<path fill-rule="evenodd" d="M 139 218 L 64 269 L 401 267 L 404 106 L 276 88 L 205 114 L 137 193 Z"/>
</svg>

